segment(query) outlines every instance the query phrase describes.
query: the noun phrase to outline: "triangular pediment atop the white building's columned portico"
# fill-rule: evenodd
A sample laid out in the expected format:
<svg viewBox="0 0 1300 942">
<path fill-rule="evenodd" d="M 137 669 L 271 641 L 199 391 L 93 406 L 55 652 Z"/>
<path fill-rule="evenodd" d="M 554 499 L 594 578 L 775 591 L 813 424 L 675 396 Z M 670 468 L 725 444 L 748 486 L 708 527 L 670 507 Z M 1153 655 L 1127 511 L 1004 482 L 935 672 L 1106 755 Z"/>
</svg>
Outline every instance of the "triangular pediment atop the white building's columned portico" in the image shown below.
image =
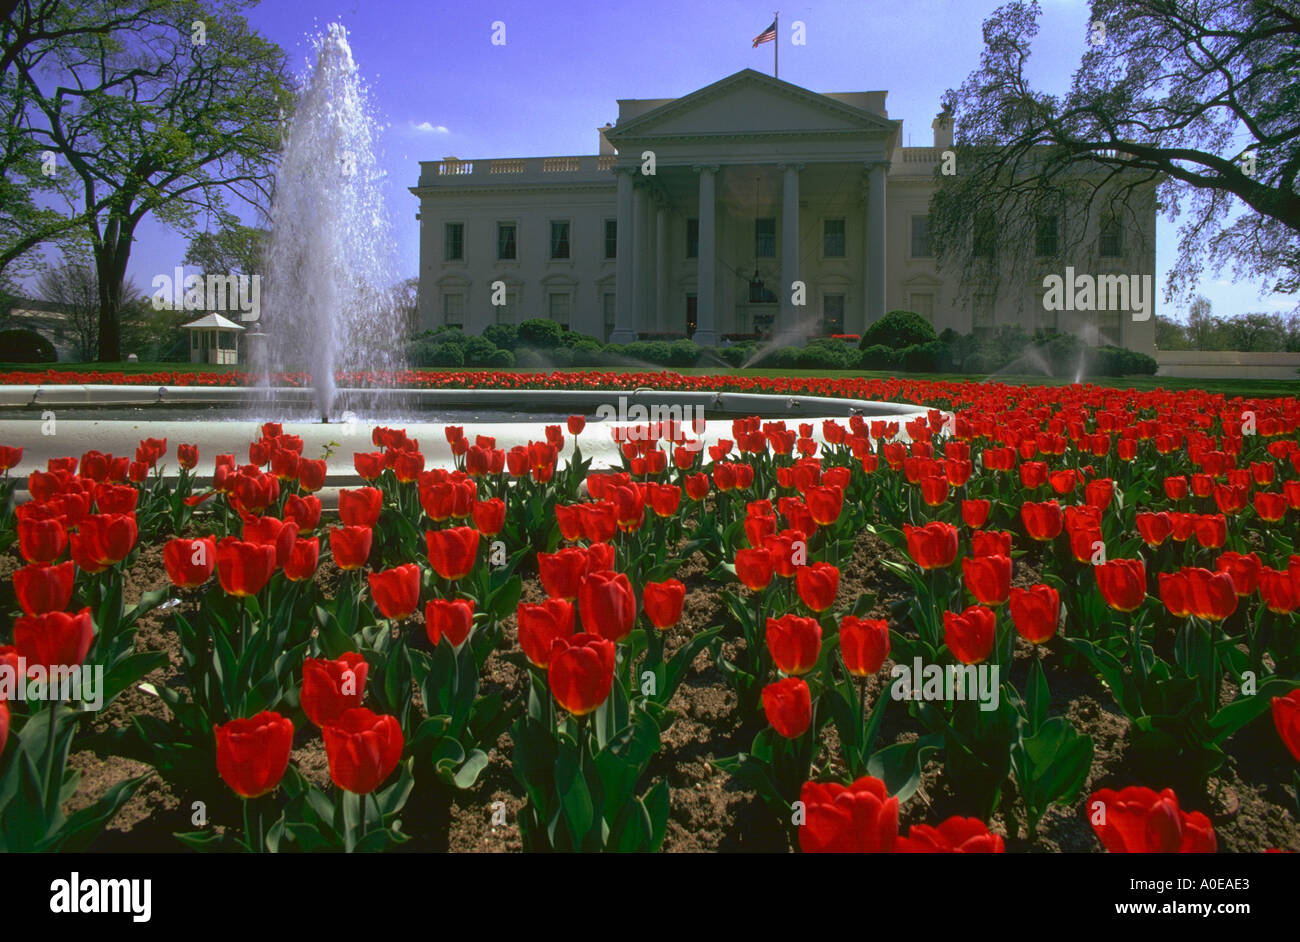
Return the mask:
<svg viewBox="0 0 1300 942">
<path fill-rule="evenodd" d="M 606 136 L 616 143 L 696 135 L 893 130 L 894 123 L 880 114 L 745 69 L 620 121 Z"/>
</svg>

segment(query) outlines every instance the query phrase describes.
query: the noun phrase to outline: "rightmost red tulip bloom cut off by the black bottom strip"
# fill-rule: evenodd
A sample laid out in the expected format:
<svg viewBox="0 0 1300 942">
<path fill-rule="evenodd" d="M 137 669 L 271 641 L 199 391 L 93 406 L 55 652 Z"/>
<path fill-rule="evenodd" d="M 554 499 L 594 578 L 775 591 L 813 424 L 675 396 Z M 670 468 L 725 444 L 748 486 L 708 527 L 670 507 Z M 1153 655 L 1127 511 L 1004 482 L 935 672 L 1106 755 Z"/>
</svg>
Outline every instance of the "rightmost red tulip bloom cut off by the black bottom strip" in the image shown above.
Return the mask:
<svg viewBox="0 0 1300 942">
<path fill-rule="evenodd" d="M 1199 811 L 1178 807 L 1173 789 L 1101 789 L 1086 808 L 1092 829 L 1112 854 L 1213 854 L 1214 828 Z"/>
</svg>

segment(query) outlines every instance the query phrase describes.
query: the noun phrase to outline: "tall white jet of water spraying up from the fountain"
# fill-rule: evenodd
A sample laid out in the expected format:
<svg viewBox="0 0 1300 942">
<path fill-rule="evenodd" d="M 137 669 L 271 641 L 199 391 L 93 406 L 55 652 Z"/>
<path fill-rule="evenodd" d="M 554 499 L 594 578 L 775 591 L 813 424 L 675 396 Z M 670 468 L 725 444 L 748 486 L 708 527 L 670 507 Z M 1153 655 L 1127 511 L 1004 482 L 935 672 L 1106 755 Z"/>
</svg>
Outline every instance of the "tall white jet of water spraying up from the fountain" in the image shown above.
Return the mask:
<svg viewBox="0 0 1300 942">
<path fill-rule="evenodd" d="M 272 200 L 265 275 L 266 374 L 307 369 L 316 412 L 334 409 L 337 370 L 395 364 L 402 318 L 389 214 L 369 116 L 347 31 L 330 23 L 316 39 L 285 138 Z M 264 381 L 268 396 L 276 390 Z"/>
</svg>

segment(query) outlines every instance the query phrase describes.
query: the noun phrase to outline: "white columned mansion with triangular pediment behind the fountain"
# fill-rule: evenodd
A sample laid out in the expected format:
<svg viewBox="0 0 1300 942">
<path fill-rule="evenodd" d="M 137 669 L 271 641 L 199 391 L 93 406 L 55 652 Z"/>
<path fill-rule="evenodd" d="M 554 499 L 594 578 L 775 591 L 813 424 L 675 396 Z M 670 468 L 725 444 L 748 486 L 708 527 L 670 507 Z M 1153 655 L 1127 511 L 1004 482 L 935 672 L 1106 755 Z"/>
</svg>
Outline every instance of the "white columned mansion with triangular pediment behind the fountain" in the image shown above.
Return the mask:
<svg viewBox="0 0 1300 942">
<path fill-rule="evenodd" d="M 618 343 L 690 335 L 861 333 L 915 311 L 937 330 L 1019 322 L 1095 343 L 1154 347 L 1154 318 L 1050 311 L 1023 291 L 962 290 L 927 235 L 952 146 L 905 147 L 887 92 L 818 94 L 745 69 L 679 99 L 625 99 L 598 155 L 420 164 L 424 329 L 546 317 Z M 1092 235 L 1101 268 L 1154 274 L 1154 203 L 1140 231 Z M 1052 236 L 1048 233 L 1048 236 Z M 1043 274 L 1065 261 L 1039 236 Z M 1044 248 L 1044 246 L 1046 248 Z M 802 283 L 802 295 L 798 291 Z"/>
</svg>

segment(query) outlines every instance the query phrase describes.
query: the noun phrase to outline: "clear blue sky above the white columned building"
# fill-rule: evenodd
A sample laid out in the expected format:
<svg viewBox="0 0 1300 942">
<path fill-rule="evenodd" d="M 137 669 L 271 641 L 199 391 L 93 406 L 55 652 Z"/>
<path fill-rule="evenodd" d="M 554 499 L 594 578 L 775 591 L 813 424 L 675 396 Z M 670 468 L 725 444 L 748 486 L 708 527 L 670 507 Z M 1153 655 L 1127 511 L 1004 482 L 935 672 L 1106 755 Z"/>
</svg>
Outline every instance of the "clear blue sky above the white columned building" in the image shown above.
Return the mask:
<svg viewBox="0 0 1300 942">
<path fill-rule="evenodd" d="M 913 146 L 930 142 L 944 91 L 978 66 L 980 26 L 994 0 L 831 0 L 780 9 L 780 77 L 814 91 L 889 92 L 892 118 Z M 1039 87 L 1062 91 L 1087 40 L 1084 0 L 1044 0 L 1031 61 Z M 594 153 L 595 129 L 618 117 L 616 99 L 673 97 L 740 69 L 772 69 L 772 44 L 751 48 L 774 4 L 741 0 L 264 0 L 250 23 L 304 71 L 311 36 L 343 23 L 385 125 L 381 164 L 403 277 L 416 272 L 420 160 Z M 491 43 L 503 22 L 504 45 Z M 806 45 L 790 43 L 794 21 Z M 1161 282 L 1174 259 L 1161 221 Z M 186 240 L 146 221 L 127 273 L 142 290 L 181 262 Z M 1290 311 L 1253 283 L 1209 274 L 1200 290 L 1216 313 Z M 1157 309 L 1161 309 L 1160 305 Z M 1182 316 L 1179 307 L 1164 308 Z"/>
</svg>

